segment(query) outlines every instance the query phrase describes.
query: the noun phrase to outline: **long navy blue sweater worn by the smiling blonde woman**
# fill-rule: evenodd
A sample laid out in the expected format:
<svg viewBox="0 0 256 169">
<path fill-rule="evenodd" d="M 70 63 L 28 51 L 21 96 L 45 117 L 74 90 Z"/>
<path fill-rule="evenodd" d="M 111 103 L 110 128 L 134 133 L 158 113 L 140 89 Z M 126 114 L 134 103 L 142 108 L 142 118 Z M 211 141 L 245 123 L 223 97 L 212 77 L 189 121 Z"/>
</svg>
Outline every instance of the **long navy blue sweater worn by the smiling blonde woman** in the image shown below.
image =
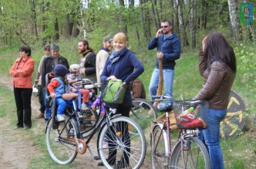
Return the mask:
<svg viewBox="0 0 256 169">
<path fill-rule="evenodd" d="M 111 65 L 109 58 L 106 60 L 106 65 L 103 68 L 103 72 L 100 76 L 101 81 L 107 81 L 109 76 L 114 75 L 116 78 L 126 82 L 126 94 L 123 99 L 123 104 L 106 104 L 111 108 L 117 108 L 119 106 L 131 106 L 132 99 L 130 94 L 130 81 L 138 78 L 144 71 L 144 67 L 140 60 L 136 58 L 136 55 L 132 51 L 126 49 L 119 60 Z"/>
</svg>

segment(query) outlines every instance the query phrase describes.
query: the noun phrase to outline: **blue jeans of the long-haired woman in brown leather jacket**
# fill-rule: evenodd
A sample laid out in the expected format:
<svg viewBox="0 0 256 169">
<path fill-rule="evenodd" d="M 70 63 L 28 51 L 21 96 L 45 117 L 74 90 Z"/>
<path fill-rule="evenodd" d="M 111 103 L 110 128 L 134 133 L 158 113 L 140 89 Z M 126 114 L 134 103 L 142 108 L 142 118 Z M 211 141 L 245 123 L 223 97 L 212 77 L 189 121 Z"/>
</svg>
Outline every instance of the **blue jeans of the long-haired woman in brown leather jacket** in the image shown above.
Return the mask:
<svg viewBox="0 0 256 169">
<path fill-rule="evenodd" d="M 203 130 L 205 144 L 210 154 L 211 168 L 213 169 L 224 168 L 223 154 L 220 145 L 220 122 L 225 118 L 226 114 L 227 110 L 209 109 L 207 129 Z"/>
</svg>

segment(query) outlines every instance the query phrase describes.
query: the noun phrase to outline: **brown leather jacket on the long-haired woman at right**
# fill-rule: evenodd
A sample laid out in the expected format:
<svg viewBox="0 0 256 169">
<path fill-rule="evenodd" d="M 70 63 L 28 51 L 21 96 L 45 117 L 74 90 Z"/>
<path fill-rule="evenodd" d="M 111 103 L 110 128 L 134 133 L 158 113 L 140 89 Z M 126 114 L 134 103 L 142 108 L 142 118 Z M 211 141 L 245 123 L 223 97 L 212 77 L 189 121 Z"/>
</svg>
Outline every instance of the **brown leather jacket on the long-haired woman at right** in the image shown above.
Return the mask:
<svg viewBox="0 0 256 169">
<path fill-rule="evenodd" d="M 199 71 L 204 77 L 204 85 L 194 100 L 206 99 L 209 108 L 227 109 L 228 97 L 233 85 L 235 73 L 224 62 L 214 61 L 210 70 L 204 66 L 203 51 L 199 51 Z"/>
</svg>

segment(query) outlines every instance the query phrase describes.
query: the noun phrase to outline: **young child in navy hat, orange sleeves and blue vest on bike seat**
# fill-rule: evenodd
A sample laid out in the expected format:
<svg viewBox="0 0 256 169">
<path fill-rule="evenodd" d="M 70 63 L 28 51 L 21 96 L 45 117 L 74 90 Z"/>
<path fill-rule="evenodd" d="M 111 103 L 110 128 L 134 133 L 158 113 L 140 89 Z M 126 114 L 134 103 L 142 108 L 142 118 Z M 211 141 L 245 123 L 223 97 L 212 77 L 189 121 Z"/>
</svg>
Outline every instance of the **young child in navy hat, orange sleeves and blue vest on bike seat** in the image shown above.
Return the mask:
<svg viewBox="0 0 256 169">
<path fill-rule="evenodd" d="M 47 88 L 51 98 L 56 98 L 56 105 L 58 106 L 57 120 L 65 121 L 63 112 L 65 111 L 66 105 L 69 104 L 72 106 L 71 100 L 66 101 L 62 98 L 62 94 L 68 93 L 66 75 L 69 73 L 69 70 L 64 65 L 56 65 L 52 73 L 55 75 L 55 78 L 52 78 Z"/>
</svg>

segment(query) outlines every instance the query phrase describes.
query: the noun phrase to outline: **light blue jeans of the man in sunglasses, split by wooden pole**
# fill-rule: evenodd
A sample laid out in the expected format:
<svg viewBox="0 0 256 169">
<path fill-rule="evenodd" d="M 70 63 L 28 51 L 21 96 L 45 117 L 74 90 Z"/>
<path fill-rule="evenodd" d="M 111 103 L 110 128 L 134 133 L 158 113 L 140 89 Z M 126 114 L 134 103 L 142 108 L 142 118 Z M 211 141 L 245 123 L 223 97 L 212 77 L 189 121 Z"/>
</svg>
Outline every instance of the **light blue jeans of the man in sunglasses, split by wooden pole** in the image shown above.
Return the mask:
<svg viewBox="0 0 256 169">
<path fill-rule="evenodd" d="M 163 69 L 164 95 L 167 95 L 170 98 L 173 98 L 173 78 L 174 78 L 174 70 Z M 151 101 L 154 100 L 152 96 L 157 95 L 158 81 L 159 81 L 159 69 L 155 68 L 151 76 L 150 87 L 149 87 Z"/>
</svg>

